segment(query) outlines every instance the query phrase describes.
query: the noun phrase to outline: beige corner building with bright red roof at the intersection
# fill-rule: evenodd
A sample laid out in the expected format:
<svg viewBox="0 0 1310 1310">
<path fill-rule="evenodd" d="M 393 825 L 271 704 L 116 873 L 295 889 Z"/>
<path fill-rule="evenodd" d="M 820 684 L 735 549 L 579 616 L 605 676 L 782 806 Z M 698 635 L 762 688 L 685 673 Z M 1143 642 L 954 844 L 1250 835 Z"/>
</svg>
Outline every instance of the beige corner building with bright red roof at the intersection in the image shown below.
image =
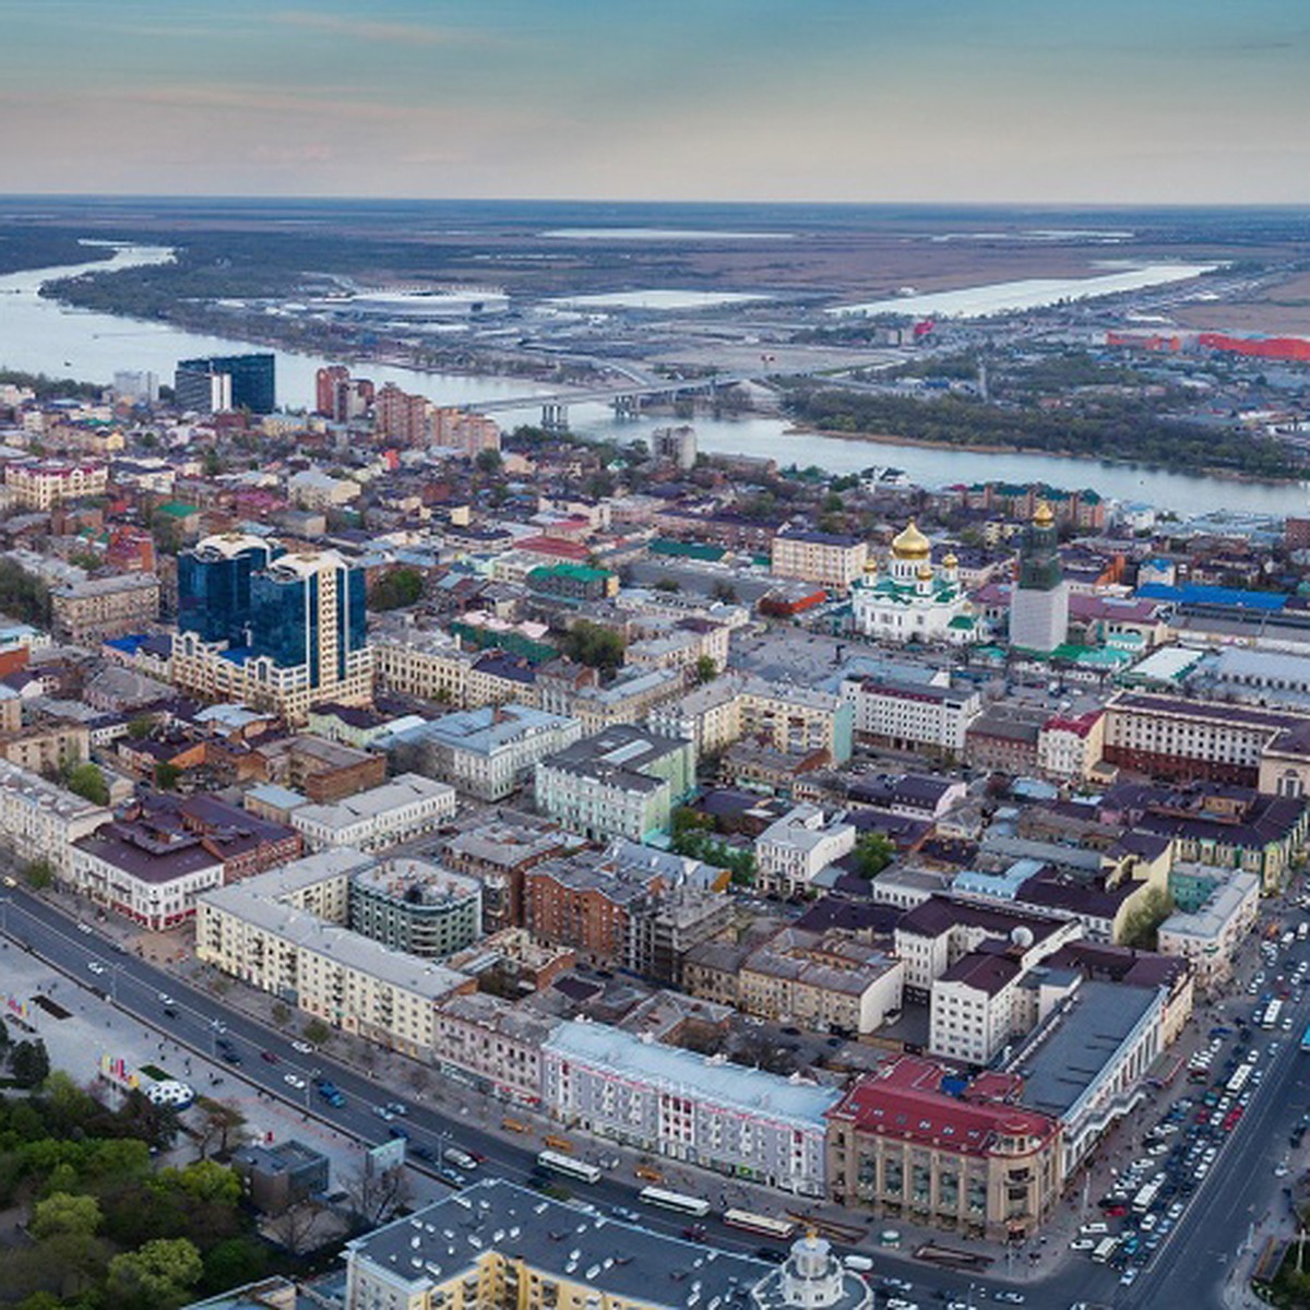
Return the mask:
<svg viewBox="0 0 1310 1310">
<path fill-rule="evenodd" d="M 1064 1189 L 1058 1119 L 1015 1103 L 1018 1079 L 951 1095 L 946 1077 L 904 1056 L 848 1090 L 829 1114 L 829 1196 L 967 1238 L 1032 1237 Z"/>
</svg>

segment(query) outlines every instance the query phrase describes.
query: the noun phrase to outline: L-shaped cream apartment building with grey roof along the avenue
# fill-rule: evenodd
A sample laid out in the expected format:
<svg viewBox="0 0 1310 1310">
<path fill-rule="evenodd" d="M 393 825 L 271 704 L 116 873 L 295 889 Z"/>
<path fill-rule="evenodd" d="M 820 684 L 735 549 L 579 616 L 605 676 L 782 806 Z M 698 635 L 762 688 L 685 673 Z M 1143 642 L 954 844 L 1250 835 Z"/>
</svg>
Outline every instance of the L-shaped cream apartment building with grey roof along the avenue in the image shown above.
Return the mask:
<svg viewBox="0 0 1310 1310">
<path fill-rule="evenodd" d="M 351 875 L 373 866 L 362 852 L 328 850 L 198 897 L 195 956 L 345 1032 L 431 1061 L 438 1005 L 476 981 L 320 917 L 318 907 L 348 900 Z"/>
</svg>

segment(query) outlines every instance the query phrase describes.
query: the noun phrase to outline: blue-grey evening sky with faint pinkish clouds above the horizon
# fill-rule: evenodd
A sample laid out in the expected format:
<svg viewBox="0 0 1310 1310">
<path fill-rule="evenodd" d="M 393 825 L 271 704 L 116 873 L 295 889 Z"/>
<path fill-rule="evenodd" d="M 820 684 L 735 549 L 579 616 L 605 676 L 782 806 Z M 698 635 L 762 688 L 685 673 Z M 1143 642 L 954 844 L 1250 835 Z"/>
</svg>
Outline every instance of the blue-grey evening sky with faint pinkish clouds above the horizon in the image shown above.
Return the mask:
<svg viewBox="0 0 1310 1310">
<path fill-rule="evenodd" d="M 1306 203 L 1306 0 L 0 0 L 13 193 Z"/>
</svg>

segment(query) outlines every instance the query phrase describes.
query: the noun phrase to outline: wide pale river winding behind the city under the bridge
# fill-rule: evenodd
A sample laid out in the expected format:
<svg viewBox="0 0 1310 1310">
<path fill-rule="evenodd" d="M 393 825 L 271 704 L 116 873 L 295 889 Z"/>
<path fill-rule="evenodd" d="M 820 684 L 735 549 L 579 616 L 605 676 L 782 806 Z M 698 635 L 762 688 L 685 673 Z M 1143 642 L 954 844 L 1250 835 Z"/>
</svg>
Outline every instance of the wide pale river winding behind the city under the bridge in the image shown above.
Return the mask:
<svg viewBox="0 0 1310 1310">
<path fill-rule="evenodd" d="M 149 369 L 170 381 L 179 359 L 231 355 L 252 348 L 249 342 L 182 331 L 159 322 L 72 309 L 38 292 L 43 282 L 80 272 L 107 272 L 172 257 L 164 246 L 123 246 L 100 263 L 56 269 L 30 269 L 0 276 L 0 368 L 17 368 L 84 381 L 113 380 L 118 369 Z M 314 372 L 329 363 L 314 355 L 278 350 L 278 397 L 290 409 L 312 403 Z M 377 383 L 393 381 L 444 405 L 473 400 L 537 394 L 541 384 L 528 379 L 474 377 L 369 364 L 356 372 Z M 508 427 L 540 421 L 527 407 L 498 411 Z M 669 422 L 645 415 L 617 419 L 605 405 L 575 405 L 569 411 L 574 430 L 588 438 L 629 441 Z M 1144 502 L 1186 515 L 1231 510 L 1239 514 L 1281 516 L 1310 508 L 1305 485 L 1235 482 L 1224 478 L 1165 473 L 1094 460 L 1065 460 L 1048 455 L 985 453 L 793 432 L 783 419 L 753 415 L 741 419 L 697 418 L 700 448 L 711 453 L 758 455 L 779 466 L 816 464 L 833 473 L 853 473 L 870 465 L 904 469 L 912 482 L 926 487 L 955 482 L 1048 482 L 1060 487 L 1094 487 L 1104 496 Z"/>
</svg>

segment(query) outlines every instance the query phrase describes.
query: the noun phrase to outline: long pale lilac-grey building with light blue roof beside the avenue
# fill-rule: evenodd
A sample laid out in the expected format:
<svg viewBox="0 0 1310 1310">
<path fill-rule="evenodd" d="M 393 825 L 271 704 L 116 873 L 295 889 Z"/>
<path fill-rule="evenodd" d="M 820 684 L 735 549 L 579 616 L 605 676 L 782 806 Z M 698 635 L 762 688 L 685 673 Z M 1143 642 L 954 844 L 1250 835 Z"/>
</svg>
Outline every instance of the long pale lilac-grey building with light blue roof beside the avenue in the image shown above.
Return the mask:
<svg viewBox="0 0 1310 1310">
<path fill-rule="evenodd" d="M 829 1087 L 570 1020 L 542 1048 L 542 1100 L 565 1124 L 800 1196 L 825 1192 Z"/>
</svg>

